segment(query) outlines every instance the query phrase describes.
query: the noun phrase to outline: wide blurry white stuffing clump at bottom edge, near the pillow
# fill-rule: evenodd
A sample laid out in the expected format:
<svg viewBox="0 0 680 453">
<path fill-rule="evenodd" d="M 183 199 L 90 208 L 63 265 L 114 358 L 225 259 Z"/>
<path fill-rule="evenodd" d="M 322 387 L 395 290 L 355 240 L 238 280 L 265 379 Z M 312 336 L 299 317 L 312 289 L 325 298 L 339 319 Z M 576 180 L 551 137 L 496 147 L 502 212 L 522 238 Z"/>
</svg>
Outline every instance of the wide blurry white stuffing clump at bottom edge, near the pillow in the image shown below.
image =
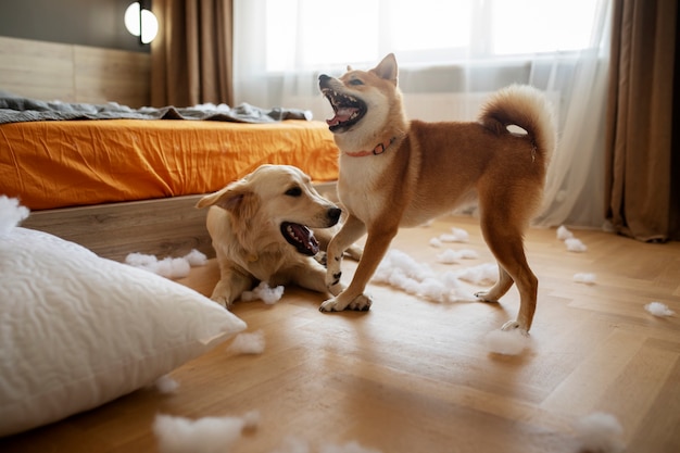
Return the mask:
<svg viewBox="0 0 680 453">
<path fill-rule="evenodd" d="M 161 453 L 225 453 L 241 437 L 243 429 L 257 426 L 260 414 L 243 417 L 203 417 L 196 420 L 159 414 L 153 432 Z"/>
</svg>

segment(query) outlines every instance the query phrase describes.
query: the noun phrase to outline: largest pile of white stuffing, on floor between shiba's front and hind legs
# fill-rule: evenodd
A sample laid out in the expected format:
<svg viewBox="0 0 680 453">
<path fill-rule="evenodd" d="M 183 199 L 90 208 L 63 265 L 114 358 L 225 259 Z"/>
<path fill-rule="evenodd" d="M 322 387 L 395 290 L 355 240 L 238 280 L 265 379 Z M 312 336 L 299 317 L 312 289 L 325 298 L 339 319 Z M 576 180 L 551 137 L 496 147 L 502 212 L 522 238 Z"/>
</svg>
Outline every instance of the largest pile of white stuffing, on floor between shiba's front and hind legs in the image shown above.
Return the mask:
<svg viewBox="0 0 680 453">
<path fill-rule="evenodd" d="M 477 298 L 459 281 L 459 275 L 466 274 L 467 269 L 436 275 L 429 266 L 417 263 L 406 253 L 390 250 L 378 266 L 373 281 L 437 302 L 474 301 Z"/>
</svg>

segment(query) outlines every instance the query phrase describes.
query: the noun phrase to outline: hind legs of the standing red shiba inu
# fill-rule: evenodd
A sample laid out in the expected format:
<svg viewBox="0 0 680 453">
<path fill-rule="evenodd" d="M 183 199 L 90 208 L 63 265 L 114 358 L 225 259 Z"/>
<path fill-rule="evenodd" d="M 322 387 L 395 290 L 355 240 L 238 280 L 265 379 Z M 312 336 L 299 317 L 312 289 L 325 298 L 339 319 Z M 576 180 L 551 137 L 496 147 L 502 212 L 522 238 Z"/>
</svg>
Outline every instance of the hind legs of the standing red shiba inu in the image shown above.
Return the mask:
<svg viewBox="0 0 680 453">
<path fill-rule="evenodd" d="M 517 320 L 503 325 L 504 330 L 519 328 L 529 331 L 539 280 L 531 272 L 525 255 L 522 232 L 519 228 L 507 222 L 481 219 L 481 230 L 484 240 L 499 263 L 499 281 L 486 293 L 479 294 L 480 299 L 495 301 L 503 295 L 512 286 L 513 281 L 519 290 L 519 313 Z"/>
</svg>

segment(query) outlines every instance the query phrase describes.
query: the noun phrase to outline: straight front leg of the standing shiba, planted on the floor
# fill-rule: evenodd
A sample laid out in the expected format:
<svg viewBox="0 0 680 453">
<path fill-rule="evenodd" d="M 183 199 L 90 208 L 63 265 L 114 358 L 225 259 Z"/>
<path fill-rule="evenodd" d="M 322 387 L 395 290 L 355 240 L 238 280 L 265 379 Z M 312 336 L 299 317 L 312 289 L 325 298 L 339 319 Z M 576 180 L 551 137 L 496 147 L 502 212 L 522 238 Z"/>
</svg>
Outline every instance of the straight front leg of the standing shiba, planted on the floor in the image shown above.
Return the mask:
<svg viewBox="0 0 680 453">
<path fill-rule="evenodd" d="M 372 300 L 364 294 L 368 280 L 375 274 L 380 261 L 385 256 L 399 228 L 379 228 L 368 231 L 366 247 L 358 262 L 354 277 L 350 286 L 333 299 L 325 301 L 319 310 L 322 312 L 340 312 L 347 309 L 366 311 L 370 309 Z"/>
</svg>

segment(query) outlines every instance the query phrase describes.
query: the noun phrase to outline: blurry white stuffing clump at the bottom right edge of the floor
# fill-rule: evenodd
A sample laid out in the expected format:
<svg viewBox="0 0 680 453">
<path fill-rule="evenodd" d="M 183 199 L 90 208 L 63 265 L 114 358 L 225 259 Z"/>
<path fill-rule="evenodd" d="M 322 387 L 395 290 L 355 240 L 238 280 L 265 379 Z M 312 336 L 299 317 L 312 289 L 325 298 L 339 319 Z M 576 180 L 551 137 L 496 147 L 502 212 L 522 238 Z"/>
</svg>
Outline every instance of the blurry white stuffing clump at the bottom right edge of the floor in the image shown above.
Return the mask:
<svg viewBox="0 0 680 453">
<path fill-rule="evenodd" d="M 576 435 L 581 442 L 582 450 L 599 453 L 618 453 L 624 451 L 624 428 L 618 419 L 612 415 L 596 412 L 579 419 L 576 425 Z"/>
</svg>

